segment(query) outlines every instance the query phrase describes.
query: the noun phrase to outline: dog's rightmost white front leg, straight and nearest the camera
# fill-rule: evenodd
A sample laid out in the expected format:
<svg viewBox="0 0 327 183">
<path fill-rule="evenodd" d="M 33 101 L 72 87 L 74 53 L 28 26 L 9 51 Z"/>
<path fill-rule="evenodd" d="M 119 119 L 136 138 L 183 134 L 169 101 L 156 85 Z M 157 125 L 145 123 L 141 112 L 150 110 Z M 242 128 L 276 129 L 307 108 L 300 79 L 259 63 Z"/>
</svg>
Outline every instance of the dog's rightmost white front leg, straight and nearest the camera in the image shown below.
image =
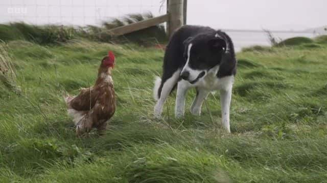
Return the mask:
<svg viewBox="0 0 327 183">
<path fill-rule="evenodd" d="M 221 103 L 221 124 L 228 133 L 230 133 L 229 127 L 229 109 L 231 101 L 231 86 L 227 89 L 220 90 L 220 103 Z"/>
</svg>

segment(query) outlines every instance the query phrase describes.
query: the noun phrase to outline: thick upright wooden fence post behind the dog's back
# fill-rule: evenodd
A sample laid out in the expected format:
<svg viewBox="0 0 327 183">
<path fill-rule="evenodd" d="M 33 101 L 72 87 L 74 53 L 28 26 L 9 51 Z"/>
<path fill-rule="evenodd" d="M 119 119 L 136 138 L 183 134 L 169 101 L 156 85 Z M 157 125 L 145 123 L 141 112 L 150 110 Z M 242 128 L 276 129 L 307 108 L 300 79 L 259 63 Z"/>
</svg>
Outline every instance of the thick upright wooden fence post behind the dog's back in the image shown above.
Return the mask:
<svg viewBox="0 0 327 183">
<path fill-rule="evenodd" d="M 167 13 L 169 14 L 169 19 L 167 22 L 167 33 L 169 37 L 184 23 L 183 2 L 183 0 L 168 0 Z"/>
</svg>

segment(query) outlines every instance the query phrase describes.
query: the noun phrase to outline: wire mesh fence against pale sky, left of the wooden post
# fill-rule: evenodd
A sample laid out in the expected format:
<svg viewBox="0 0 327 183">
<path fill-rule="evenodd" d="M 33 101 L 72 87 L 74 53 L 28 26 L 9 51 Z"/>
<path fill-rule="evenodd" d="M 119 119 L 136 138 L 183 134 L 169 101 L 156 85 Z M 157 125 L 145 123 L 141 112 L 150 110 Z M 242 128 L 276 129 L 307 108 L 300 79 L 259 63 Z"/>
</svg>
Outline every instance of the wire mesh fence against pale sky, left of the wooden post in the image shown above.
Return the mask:
<svg viewBox="0 0 327 183">
<path fill-rule="evenodd" d="M 164 6 L 163 6 L 164 5 Z M 1 0 L 0 23 L 97 25 L 133 13 L 166 13 L 162 0 Z"/>
</svg>

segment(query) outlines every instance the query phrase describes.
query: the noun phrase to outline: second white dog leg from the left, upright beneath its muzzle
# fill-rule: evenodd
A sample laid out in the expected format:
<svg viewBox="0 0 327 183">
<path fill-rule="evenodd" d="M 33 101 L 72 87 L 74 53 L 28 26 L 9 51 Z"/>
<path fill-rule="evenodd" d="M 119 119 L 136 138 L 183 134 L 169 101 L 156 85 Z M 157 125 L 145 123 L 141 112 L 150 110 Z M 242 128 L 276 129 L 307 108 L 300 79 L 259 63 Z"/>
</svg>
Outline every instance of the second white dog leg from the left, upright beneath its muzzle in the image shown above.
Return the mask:
<svg viewBox="0 0 327 183">
<path fill-rule="evenodd" d="M 181 80 L 177 85 L 176 104 L 175 104 L 175 117 L 179 118 L 184 116 L 185 108 L 185 95 L 189 89 L 187 81 Z"/>
</svg>

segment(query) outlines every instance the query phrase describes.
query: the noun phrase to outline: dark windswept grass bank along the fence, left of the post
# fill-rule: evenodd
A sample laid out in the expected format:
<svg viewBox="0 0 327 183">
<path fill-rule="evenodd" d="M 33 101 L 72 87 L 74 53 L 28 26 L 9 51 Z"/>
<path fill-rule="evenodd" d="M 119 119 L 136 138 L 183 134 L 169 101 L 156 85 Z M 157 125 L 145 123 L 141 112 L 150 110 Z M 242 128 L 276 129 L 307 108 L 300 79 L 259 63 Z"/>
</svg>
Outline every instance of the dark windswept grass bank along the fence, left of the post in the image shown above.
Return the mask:
<svg viewBox="0 0 327 183">
<path fill-rule="evenodd" d="M 64 25 L 31 25 L 24 22 L 0 24 L 0 40 L 27 40 L 40 45 L 58 45 L 72 39 L 84 38 L 91 41 L 106 43 L 138 43 L 153 45 L 157 42 L 166 42 L 166 32 L 163 25 L 155 25 L 123 36 L 114 37 L 109 30 L 115 27 L 136 23 L 153 18 L 151 13 L 129 14 L 122 18 L 112 18 L 102 22 L 100 26 L 64 26 Z"/>
</svg>

